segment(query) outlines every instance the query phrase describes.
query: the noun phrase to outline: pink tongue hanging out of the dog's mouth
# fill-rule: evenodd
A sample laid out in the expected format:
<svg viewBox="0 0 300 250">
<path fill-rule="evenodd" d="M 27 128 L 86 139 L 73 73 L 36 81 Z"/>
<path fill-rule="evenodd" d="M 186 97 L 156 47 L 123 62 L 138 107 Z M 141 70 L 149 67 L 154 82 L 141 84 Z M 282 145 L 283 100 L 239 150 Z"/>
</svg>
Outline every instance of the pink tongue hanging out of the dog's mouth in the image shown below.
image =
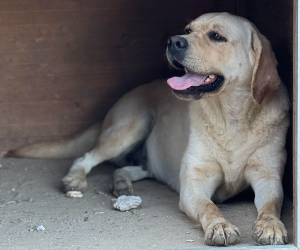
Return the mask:
<svg viewBox="0 0 300 250">
<path fill-rule="evenodd" d="M 193 72 L 187 72 L 182 77 L 172 77 L 167 80 L 167 83 L 172 87 L 174 90 L 185 90 L 191 86 L 200 86 L 204 83 L 207 75 L 198 75 Z"/>
</svg>

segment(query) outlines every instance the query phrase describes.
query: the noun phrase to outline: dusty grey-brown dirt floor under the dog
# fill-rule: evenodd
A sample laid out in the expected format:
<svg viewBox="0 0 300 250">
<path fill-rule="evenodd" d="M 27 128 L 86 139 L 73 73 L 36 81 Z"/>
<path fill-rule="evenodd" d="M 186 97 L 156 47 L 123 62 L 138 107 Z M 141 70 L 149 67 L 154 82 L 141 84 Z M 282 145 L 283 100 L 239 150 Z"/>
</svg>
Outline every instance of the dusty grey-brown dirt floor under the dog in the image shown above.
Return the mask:
<svg viewBox="0 0 300 250">
<path fill-rule="evenodd" d="M 142 206 L 113 209 L 113 166 L 88 175 L 81 199 L 66 198 L 60 180 L 71 160 L 0 159 L 0 249 L 189 249 L 205 247 L 203 231 L 178 210 L 179 196 L 154 180 L 134 184 Z M 104 193 L 101 193 L 104 192 Z M 255 245 L 253 197 L 218 205 L 241 234 L 238 246 Z M 283 222 L 292 239 L 292 203 L 285 200 Z M 43 225 L 45 230 L 36 228 Z M 186 240 L 194 240 L 187 242 Z"/>
</svg>

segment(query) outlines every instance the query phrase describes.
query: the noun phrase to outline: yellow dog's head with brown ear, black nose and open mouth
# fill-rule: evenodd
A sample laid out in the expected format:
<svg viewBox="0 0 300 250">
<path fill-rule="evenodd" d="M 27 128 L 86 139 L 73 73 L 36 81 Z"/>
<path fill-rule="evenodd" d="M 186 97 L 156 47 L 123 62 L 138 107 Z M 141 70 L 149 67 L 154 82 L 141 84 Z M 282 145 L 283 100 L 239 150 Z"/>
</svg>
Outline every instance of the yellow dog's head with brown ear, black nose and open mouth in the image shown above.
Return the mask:
<svg viewBox="0 0 300 250">
<path fill-rule="evenodd" d="M 208 13 L 187 25 L 185 33 L 171 37 L 167 46 L 169 62 L 186 71 L 168 80 L 177 97 L 196 100 L 238 84 L 251 89 L 253 101 L 260 104 L 279 87 L 270 43 L 247 19 Z"/>
</svg>

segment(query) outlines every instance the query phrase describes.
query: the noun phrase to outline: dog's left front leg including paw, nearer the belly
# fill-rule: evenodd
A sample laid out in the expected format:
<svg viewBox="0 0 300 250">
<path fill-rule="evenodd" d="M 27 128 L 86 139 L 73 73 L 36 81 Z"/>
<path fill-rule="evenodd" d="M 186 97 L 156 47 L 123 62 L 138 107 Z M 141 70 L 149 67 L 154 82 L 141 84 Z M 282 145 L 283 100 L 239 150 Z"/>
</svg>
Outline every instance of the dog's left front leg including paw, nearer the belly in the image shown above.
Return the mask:
<svg viewBox="0 0 300 250">
<path fill-rule="evenodd" d="M 205 231 L 205 243 L 229 246 L 240 239 L 238 228 L 224 219 L 218 207 L 211 201 L 221 184 L 223 173 L 218 163 L 190 166 L 183 164 L 180 173 L 179 209 L 191 219 L 201 223 Z"/>
</svg>

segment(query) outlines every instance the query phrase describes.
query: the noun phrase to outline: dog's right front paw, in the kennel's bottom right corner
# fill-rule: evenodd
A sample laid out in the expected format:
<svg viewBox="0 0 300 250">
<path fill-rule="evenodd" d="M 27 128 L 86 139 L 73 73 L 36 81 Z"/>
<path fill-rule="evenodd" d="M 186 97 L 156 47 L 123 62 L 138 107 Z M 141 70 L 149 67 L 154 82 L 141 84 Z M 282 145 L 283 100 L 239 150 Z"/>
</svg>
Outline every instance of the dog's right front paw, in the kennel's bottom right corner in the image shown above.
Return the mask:
<svg viewBox="0 0 300 250">
<path fill-rule="evenodd" d="M 253 230 L 252 238 L 260 245 L 283 245 L 289 241 L 283 223 L 275 216 L 260 216 Z"/>
</svg>

